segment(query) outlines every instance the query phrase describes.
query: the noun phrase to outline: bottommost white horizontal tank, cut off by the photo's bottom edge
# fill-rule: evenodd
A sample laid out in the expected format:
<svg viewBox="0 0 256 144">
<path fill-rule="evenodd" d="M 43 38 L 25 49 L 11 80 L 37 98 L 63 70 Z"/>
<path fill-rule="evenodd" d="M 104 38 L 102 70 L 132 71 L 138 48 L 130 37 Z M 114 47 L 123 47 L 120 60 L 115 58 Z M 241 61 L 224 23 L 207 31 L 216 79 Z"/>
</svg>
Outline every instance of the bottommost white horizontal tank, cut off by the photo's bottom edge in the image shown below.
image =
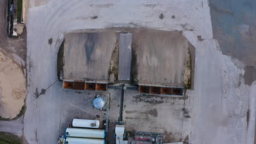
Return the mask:
<svg viewBox="0 0 256 144">
<path fill-rule="evenodd" d="M 104 139 L 90 139 L 80 137 L 66 137 L 65 144 L 104 144 Z"/>
</svg>

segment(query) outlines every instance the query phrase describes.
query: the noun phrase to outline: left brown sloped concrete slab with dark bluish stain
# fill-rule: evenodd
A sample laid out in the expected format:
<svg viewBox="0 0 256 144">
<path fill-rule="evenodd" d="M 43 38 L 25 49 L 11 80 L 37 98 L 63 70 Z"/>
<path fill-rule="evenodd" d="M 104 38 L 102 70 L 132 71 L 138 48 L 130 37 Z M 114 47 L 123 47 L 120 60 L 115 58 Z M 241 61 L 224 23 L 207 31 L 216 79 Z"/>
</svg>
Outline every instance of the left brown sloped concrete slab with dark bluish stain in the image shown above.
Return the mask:
<svg viewBox="0 0 256 144">
<path fill-rule="evenodd" d="M 116 42 L 113 31 L 65 34 L 63 80 L 108 82 Z"/>
</svg>

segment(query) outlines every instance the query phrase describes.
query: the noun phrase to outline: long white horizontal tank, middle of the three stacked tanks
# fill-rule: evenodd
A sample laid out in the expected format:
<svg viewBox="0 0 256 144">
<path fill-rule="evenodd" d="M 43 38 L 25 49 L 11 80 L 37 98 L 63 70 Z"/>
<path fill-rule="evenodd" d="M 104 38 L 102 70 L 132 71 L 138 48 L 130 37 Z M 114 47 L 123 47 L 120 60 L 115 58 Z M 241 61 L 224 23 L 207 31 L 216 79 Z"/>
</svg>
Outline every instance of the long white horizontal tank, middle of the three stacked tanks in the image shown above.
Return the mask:
<svg viewBox="0 0 256 144">
<path fill-rule="evenodd" d="M 106 133 L 104 129 L 82 129 L 82 128 L 67 128 L 66 136 L 70 137 L 89 137 L 96 139 L 104 139 Z"/>
</svg>

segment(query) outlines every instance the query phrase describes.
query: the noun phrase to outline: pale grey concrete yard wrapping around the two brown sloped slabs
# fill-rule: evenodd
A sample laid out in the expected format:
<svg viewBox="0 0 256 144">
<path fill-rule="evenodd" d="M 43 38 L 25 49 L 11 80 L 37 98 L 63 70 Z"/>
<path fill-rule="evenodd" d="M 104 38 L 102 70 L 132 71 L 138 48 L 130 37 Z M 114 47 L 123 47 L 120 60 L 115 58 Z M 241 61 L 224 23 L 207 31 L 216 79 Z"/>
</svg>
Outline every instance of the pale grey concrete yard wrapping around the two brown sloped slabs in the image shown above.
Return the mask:
<svg viewBox="0 0 256 144">
<path fill-rule="evenodd" d="M 79 97 L 79 93 L 62 91 L 61 82 L 57 81 L 57 51 L 63 34 L 75 29 L 106 27 L 147 27 L 163 31 L 182 31 L 196 50 L 194 89 L 187 91 L 183 104 L 191 117 L 183 119 L 182 130 L 178 131 L 181 132 L 181 140 L 207 144 L 253 143 L 256 82 L 247 85 L 243 79 L 243 63 L 235 59 L 234 64 L 234 59 L 220 51 L 218 41 L 213 39 L 208 5 L 207 0 L 32 0 L 27 17 L 29 87 L 24 118 L 24 135 L 28 143 L 55 143 L 61 133 L 62 97 L 70 98 L 70 104 L 76 102 L 72 97 Z M 48 43 L 50 38 L 53 39 L 52 44 Z M 35 97 L 36 91 L 38 97 Z M 177 101 L 177 104 L 170 104 L 168 108 L 170 114 L 177 112 L 177 117 L 171 118 L 175 119 L 177 125 L 172 127 L 173 124 L 167 124 L 170 128 L 179 129 L 181 123 L 177 120 L 181 117 L 182 109 L 176 109 L 181 103 L 182 100 Z M 126 104 L 126 107 L 129 105 Z M 162 104 L 162 107 L 166 106 Z M 157 112 L 158 116 L 164 115 L 161 109 Z M 153 115 L 154 113 L 155 111 L 152 112 Z M 136 117 L 136 113 L 131 113 L 131 117 Z M 147 118 L 147 115 L 142 113 L 142 118 Z M 150 121 L 154 122 L 156 119 L 163 123 L 161 117 L 153 117 Z M 136 130 L 140 128 L 143 129 L 138 127 Z"/>
</svg>

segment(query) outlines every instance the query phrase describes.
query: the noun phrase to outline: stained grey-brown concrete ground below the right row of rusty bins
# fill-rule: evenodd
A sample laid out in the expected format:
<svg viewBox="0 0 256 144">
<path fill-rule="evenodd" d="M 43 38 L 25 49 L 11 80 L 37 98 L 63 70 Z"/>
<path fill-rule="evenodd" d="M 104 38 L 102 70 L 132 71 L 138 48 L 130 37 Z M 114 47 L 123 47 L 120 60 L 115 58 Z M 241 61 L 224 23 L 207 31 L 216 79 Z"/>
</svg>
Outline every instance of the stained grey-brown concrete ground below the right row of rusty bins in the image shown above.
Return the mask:
<svg viewBox="0 0 256 144">
<path fill-rule="evenodd" d="M 126 90 L 123 118 L 127 131 L 164 133 L 164 142 L 182 138 L 184 98 Z"/>
</svg>

